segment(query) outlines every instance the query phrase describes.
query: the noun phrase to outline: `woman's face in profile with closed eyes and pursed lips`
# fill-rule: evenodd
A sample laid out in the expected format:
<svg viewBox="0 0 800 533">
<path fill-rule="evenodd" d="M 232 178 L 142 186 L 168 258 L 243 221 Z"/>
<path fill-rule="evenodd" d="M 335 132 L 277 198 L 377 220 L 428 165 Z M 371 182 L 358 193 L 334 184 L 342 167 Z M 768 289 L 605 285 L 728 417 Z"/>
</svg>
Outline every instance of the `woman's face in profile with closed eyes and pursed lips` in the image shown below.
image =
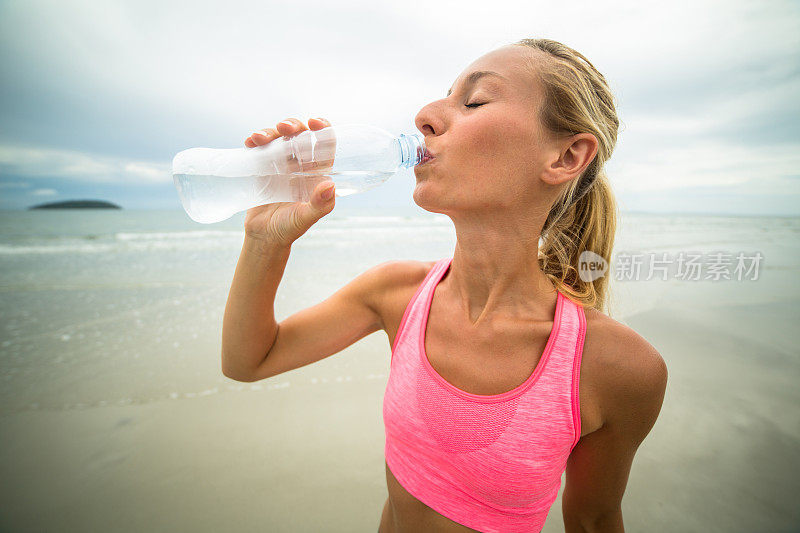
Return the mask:
<svg viewBox="0 0 800 533">
<path fill-rule="evenodd" d="M 448 214 L 544 203 L 537 177 L 549 137 L 538 120 L 543 95 L 527 70 L 534 53 L 509 45 L 478 58 L 446 98 L 417 113 L 416 126 L 434 155 L 414 167 L 417 205 Z"/>
</svg>

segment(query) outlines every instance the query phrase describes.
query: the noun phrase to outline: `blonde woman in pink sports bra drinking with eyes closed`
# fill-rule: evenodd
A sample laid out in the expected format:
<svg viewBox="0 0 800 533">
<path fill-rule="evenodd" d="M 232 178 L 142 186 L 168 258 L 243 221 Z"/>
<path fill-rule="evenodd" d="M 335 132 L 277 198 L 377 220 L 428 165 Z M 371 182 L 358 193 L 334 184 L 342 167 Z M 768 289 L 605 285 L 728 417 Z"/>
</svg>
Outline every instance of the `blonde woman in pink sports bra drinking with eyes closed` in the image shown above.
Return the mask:
<svg viewBox="0 0 800 533">
<path fill-rule="evenodd" d="M 334 199 L 322 183 L 309 202 L 251 209 L 223 372 L 265 379 L 383 329 L 381 533 L 540 531 L 565 470 L 566 530 L 623 531 L 628 474 L 667 370 L 603 313 L 608 279 L 579 273 L 582 252 L 609 261 L 614 240 L 603 167 L 618 120 L 605 79 L 571 48 L 525 39 L 478 58 L 416 126 L 433 159 L 414 169 L 414 201 L 453 220 L 453 257 L 378 265 L 278 325 L 291 244 Z M 291 119 L 245 144 L 305 129 Z"/>
</svg>

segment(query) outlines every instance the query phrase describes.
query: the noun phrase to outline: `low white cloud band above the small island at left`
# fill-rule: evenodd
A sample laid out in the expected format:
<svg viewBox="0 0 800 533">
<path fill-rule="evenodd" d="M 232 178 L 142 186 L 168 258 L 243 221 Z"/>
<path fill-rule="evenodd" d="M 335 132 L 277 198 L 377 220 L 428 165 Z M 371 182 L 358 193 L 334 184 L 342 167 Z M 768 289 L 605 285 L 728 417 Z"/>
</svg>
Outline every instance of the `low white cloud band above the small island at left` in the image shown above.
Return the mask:
<svg viewBox="0 0 800 533">
<path fill-rule="evenodd" d="M 172 182 L 171 167 L 167 163 L 134 161 L 75 150 L 8 145 L 0 145 L 0 174 L 109 184 Z"/>
</svg>

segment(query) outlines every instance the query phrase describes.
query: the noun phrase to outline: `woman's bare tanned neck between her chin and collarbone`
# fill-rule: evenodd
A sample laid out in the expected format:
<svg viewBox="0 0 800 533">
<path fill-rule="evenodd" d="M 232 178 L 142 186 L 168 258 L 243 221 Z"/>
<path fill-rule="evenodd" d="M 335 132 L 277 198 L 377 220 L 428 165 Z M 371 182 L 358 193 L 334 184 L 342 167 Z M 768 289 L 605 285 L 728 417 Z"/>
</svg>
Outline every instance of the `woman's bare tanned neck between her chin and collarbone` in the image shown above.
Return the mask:
<svg viewBox="0 0 800 533">
<path fill-rule="evenodd" d="M 498 220 L 485 214 L 454 220 L 457 241 L 447 275 L 452 294 L 473 326 L 504 317 L 552 320 L 556 289 L 537 260 L 541 225 Z"/>
</svg>

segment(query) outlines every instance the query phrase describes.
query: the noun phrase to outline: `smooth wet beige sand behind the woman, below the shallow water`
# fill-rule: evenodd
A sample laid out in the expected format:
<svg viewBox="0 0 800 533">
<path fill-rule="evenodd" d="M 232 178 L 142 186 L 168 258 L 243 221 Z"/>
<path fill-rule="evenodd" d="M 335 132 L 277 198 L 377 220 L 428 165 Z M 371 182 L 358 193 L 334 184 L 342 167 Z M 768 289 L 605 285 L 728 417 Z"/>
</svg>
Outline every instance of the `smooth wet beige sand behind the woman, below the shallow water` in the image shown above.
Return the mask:
<svg viewBox="0 0 800 533">
<path fill-rule="evenodd" d="M 781 302 L 662 307 L 625 320 L 670 371 L 623 500 L 629 531 L 800 524 L 798 318 L 796 302 Z M 0 526 L 374 531 L 387 495 L 387 356 L 379 333 L 330 360 L 215 393 L 6 414 Z M 545 531 L 561 530 L 559 496 Z"/>
</svg>

